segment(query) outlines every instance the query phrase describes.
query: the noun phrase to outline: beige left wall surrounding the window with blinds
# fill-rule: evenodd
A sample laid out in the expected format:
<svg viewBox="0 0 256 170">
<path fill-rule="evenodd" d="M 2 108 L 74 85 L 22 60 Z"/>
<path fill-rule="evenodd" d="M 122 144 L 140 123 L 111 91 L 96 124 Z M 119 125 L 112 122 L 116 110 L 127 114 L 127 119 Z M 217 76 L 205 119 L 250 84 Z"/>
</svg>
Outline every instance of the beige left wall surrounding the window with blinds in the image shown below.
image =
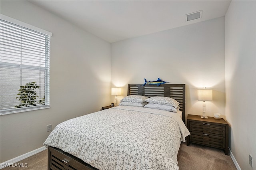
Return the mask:
<svg viewBox="0 0 256 170">
<path fill-rule="evenodd" d="M 0 116 L 0 162 L 42 147 L 46 125 L 110 104 L 110 43 L 34 6 L 2 1 L 1 14 L 52 32 L 50 109 Z"/>
</svg>

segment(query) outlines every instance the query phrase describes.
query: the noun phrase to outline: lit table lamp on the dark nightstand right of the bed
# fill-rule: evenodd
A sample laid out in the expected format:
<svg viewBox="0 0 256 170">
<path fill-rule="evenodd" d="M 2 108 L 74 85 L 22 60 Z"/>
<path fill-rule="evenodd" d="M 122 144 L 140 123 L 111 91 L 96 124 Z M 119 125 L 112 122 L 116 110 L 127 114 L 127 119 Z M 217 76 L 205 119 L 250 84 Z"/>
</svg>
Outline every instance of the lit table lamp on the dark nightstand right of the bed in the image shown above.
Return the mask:
<svg viewBox="0 0 256 170">
<path fill-rule="evenodd" d="M 203 103 L 203 115 L 201 115 L 201 118 L 208 119 L 206 116 L 206 105 L 205 101 L 212 101 L 212 89 L 198 89 L 198 100 L 204 101 Z"/>
</svg>

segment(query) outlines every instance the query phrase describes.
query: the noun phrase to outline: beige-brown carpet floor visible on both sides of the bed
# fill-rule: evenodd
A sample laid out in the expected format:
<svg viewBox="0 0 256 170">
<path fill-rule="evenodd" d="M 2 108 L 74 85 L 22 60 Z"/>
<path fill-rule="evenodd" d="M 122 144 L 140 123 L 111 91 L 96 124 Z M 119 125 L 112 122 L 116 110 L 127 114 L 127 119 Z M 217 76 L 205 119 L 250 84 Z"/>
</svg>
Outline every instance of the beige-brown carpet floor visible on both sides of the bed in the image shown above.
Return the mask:
<svg viewBox="0 0 256 170">
<path fill-rule="evenodd" d="M 30 156 L 20 162 L 28 166 L 23 168 L 6 167 L 2 170 L 47 170 L 47 150 Z M 223 150 L 182 142 L 180 158 L 178 160 L 180 170 L 236 170 L 230 156 Z"/>
</svg>

